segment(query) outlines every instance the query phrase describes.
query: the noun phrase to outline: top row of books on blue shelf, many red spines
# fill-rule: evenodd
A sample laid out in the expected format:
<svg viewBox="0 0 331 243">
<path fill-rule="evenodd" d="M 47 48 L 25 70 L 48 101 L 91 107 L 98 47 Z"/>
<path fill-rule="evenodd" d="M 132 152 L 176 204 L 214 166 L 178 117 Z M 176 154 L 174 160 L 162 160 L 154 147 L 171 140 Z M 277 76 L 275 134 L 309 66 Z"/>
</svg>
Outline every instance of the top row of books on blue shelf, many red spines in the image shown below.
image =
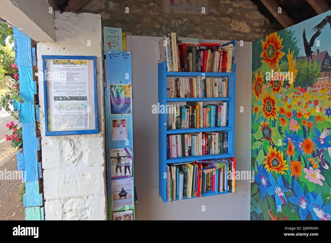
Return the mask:
<svg viewBox="0 0 331 243">
<path fill-rule="evenodd" d="M 160 59 L 169 72 L 233 72 L 235 46 L 199 43 L 195 38 L 176 38 L 170 33 L 159 42 Z"/>
</svg>

